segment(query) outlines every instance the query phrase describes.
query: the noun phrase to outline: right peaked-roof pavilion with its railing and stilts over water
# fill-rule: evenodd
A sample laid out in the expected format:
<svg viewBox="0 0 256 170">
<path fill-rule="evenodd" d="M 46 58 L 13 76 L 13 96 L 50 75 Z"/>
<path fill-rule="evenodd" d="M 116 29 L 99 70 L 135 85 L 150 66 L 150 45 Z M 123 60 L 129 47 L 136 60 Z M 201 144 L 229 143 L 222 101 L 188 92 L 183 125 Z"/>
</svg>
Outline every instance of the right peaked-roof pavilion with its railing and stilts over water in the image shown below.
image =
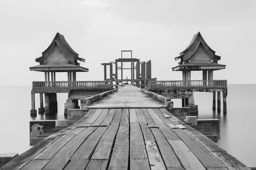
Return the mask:
<svg viewBox="0 0 256 170">
<path fill-rule="evenodd" d="M 213 71 L 225 69 L 226 65 L 218 63 L 221 57 L 215 55 L 215 51 L 207 45 L 200 32 L 194 35 L 180 56 L 175 57 L 175 61 L 179 59 L 179 65 L 172 68 L 172 71 L 182 71 L 182 80 L 151 81 L 148 83 L 148 88 L 172 99 L 182 99 L 182 106 L 189 107 L 190 113 L 198 113 L 198 106 L 195 105 L 193 97 L 194 91 L 212 92 L 213 110 L 216 109 L 217 92 L 218 111 L 221 111 L 222 92 L 223 113 L 227 113 L 227 80 L 213 79 Z M 191 71 L 202 71 L 202 80 L 192 80 Z"/>
</svg>

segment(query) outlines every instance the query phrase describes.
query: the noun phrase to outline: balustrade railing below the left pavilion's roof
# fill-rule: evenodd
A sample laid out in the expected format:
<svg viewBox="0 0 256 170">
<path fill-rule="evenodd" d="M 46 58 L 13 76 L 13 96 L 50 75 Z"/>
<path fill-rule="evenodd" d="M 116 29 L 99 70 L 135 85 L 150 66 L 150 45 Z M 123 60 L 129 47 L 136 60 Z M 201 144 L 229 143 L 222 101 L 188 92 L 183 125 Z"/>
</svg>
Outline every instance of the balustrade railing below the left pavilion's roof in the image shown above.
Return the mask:
<svg viewBox="0 0 256 170">
<path fill-rule="evenodd" d="M 111 89 L 111 81 L 53 81 L 32 82 L 33 89 Z"/>
</svg>

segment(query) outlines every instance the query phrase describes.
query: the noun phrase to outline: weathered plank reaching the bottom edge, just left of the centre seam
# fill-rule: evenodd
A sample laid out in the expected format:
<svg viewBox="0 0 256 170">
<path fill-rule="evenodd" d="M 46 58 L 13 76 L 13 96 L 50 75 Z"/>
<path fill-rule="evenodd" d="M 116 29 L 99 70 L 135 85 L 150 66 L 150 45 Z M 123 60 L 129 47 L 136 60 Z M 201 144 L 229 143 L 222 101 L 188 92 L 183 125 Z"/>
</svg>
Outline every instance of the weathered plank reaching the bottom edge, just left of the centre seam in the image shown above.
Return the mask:
<svg viewBox="0 0 256 170">
<path fill-rule="evenodd" d="M 128 169 L 129 127 L 120 126 L 108 169 Z"/>
</svg>

